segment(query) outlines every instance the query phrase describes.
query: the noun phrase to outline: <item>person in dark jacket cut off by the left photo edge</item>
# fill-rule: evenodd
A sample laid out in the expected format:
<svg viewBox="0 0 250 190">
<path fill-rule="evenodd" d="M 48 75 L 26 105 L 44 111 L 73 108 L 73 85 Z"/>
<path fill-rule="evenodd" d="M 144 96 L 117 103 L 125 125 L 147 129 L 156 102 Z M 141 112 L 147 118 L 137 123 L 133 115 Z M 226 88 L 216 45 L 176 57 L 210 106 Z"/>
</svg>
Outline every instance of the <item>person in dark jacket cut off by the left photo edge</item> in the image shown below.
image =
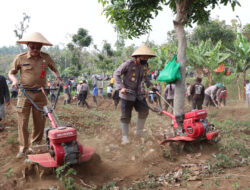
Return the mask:
<svg viewBox="0 0 250 190">
<path fill-rule="evenodd" d="M 5 103 L 5 104 L 4 104 Z M 9 87 L 4 76 L 0 75 L 0 121 L 5 119 L 5 105 L 10 104 Z M 3 130 L 3 125 L 0 124 L 0 131 Z"/>
</svg>

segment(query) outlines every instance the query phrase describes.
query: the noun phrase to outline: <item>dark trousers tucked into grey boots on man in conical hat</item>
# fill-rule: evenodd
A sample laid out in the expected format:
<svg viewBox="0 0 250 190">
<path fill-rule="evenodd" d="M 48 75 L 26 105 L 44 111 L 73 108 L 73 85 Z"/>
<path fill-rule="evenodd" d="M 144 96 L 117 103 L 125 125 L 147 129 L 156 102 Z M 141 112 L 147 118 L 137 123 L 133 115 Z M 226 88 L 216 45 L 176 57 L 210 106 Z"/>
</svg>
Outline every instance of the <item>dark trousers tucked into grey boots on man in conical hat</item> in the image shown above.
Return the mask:
<svg viewBox="0 0 250 190">
<path fill-rule="evenodd" d="M 138 112 L 138 118 L 146 119 L 149 113 L 149 108 L 147 105 L 148 104 L 145 99 L 141 101 L 138 99 L 135 101 L 121 99 L 121 122 L 130 123 L 133 108 L 135 108 L 135 111 Z"/>
</svg>

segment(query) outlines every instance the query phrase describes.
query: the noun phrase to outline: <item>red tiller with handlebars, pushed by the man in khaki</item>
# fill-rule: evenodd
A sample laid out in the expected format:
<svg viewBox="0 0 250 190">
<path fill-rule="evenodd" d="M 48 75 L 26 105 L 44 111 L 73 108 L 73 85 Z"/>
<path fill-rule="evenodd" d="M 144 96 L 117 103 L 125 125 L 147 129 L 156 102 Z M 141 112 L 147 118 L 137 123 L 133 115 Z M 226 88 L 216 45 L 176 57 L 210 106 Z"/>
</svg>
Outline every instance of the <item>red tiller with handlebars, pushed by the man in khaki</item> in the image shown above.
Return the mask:
<svg viewBox="0 0 250 190">
<path fill-rule="evenodd" d="M 44 167 L 58 167 L 65 163 L 79 164 L 90 160 L 94 154 L 94 149 L 89 146 L 83 147 L 77 141 L 76 129 L 58 125 L 52 115 L 52 111 L 56 107 L 56 102 L 60 94 L 60 88 L 58 89 L 53 108 L 50 109 L 48 106 L 44 106 L 43 110 L 41 110 L 26 93 L 26 91 L 30 89 L 24 89 L 23 87 L 19 88 L 34 107 L 49 118 L 51 123 L 51 127 L 45 130 L 46 145 L 44 145 L 44 147 L 47 148 L 47 152 L 42 154 L 30 154 L 28 155 L 28 159 Z M 44 92 L 43 88 L 35 90 Z"/>
</svg>

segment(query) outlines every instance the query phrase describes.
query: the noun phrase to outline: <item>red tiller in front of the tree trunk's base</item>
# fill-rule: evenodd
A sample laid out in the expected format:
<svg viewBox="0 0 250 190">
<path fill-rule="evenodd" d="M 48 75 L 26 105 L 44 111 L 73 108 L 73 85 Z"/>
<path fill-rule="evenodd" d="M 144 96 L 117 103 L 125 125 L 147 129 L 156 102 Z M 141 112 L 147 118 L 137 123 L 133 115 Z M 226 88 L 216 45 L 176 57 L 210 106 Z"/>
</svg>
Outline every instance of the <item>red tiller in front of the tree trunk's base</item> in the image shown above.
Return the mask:
<svg viewBox="0 0 250 190">
<path fill-rule="evenodd" d="M 175 141 L 212 140 L 219 135 L 219 132 L 215 130 L 215 126 L 209 124 L 207 120 L 207 111 L 204 109 L 185 113 L 181 119 L 176 118 L 167 111 L 161 111 L 161 113 L 172 118 L 174 130 L 177 130 L 178 127 L 177 120 L 181 120 L 181 123 L 183 123 L 183 131 L 186 135 L 166 138 L 160 144 Z"/>
</svg>

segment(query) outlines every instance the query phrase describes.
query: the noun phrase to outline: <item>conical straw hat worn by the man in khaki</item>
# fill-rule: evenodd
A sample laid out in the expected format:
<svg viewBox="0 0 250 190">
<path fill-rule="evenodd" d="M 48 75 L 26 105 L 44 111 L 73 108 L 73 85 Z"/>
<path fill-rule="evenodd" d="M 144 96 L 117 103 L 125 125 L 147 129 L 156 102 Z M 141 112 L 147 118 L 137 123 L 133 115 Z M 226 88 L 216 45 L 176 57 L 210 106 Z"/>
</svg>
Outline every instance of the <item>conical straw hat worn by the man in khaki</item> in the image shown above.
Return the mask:
<svg viewBox="0 0 250 190">
<path fill-rule="evenodd" d="M 29 42 L 41 43 L 44 46 L 53 46 L 41 33 L 33 32 L 18 40 L 19 44 L 28 44 Z"/>
</svg>

